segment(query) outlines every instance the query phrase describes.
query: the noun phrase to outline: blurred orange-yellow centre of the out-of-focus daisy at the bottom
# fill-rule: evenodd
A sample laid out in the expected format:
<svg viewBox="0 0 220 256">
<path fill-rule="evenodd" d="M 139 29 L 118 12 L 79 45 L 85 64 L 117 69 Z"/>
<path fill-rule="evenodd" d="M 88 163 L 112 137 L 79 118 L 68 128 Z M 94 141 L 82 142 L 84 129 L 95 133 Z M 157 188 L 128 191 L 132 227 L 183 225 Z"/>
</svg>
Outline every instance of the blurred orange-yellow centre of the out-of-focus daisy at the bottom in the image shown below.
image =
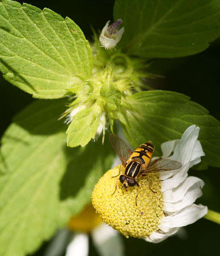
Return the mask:
<svg viewBox="0 0 220 256">
<path fill-rule="evenodd" d="M 72 231 L 91 232 L 101 222 L 102 220 L 93 206 L 88 205 L 80 214 L 69 220 L 67 227 Z"/>
</svg>

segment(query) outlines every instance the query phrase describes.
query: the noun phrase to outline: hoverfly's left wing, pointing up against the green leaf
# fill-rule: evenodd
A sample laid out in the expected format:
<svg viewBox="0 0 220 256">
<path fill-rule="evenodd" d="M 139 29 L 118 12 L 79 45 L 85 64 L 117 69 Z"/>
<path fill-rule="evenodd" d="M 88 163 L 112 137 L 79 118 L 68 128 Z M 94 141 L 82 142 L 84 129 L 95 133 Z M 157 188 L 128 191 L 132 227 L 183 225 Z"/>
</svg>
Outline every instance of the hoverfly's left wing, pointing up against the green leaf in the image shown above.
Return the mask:
<svg viewBox="0 0 220 256">
<path fill-rule="evenodd" d="M 109 135 L 109 141 L 124 165 L 132 154 L 130 148 L 121 138 L 113 133 Z"/>
</svg>

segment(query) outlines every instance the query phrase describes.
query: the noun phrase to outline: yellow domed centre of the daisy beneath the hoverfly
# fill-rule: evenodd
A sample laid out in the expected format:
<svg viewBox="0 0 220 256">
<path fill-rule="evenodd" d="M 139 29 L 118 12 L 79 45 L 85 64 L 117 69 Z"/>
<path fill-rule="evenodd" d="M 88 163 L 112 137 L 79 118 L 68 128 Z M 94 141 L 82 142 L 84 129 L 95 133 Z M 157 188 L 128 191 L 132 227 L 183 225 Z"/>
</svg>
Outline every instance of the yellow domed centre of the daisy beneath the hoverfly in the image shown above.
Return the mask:
<svg viewBox="0 0 220 256">
<path fill-rule="evenodd" d="M 119 176 L 113 176 L 119 174 L 119 166 L 107 171 L 99 179 L 92 194 L 93 206 L 103 221 L 125 237 L 147 237 L 159 229 L 160 220 L 164 216 L 159 173 L 150 174 L 151 189 L 157 193 L 149 189 L 148 177 L 138 179 L 140 191 L 136 206 L 137 186 L 128 188 L 126 192 L 122 188 L 122 183 L 118 181 L 115 191 Z"/>
</svg>

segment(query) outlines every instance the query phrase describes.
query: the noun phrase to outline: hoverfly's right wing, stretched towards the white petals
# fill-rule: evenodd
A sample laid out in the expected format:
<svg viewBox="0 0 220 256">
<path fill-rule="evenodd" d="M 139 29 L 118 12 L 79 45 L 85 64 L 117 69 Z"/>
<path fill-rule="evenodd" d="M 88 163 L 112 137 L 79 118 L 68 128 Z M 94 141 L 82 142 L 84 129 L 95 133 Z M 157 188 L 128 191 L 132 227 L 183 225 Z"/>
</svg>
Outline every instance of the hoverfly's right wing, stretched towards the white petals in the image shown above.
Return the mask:
<svg viewBox="0 0 220 256">
<path fill-rule="evenodd" d="M 173 171 L 182 167 L 182 164 L 178 161 L 174 161 L 171 159 L 156 159 L 148 165 L 146 170 L 143 170 L 143 174 L 159 172 L 159 171 Z"/>
</svg>

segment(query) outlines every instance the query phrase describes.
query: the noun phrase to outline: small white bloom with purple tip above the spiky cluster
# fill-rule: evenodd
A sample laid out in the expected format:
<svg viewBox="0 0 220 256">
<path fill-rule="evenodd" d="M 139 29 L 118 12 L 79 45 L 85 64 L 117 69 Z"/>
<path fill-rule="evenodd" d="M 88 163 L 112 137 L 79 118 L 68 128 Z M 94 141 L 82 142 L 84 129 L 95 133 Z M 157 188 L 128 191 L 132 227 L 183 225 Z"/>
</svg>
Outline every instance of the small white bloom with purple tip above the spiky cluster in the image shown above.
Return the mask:
<svg viewBox="0 0 220 256">
<path fill-rule="evenodd" d="M 119 31 L 119 25 L 122 23 L 122 20 L 119 19 L 113 24 L 108 26 L 110 21 L 107 21 L 104 28 L 101 30 L 101 35 L 99 36 L 99 41 L 105 49 L 111 49 L 116 46 L 116 44 L 121 40 L 122 34 L 124 33 L 124 27 Z"/>
</svg>

